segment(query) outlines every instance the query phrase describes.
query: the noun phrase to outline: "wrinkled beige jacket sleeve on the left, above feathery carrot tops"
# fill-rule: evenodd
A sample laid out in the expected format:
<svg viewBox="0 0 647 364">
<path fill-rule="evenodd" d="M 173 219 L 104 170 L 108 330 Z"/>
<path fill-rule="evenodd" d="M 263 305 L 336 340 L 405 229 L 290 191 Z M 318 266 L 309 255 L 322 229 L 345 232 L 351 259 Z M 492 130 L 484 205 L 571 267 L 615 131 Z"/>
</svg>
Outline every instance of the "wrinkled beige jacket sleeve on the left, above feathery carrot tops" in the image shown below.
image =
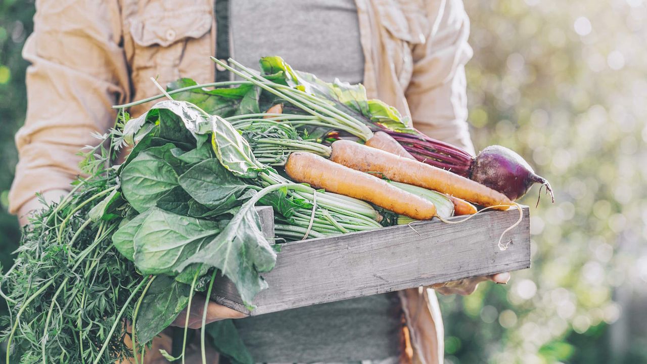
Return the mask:
<svg viewBox="0 0 647 364">
<path fill-rule="evenodd" d="M 115 1 L 41 0 L 23 49 L 27 119 L 16 133 L 19 162 L 9 194 L 18 212 L 36 192 L 69 190 L 93 131 L 115 122 L 111 106 L 129 93 Z"/>
</svg>

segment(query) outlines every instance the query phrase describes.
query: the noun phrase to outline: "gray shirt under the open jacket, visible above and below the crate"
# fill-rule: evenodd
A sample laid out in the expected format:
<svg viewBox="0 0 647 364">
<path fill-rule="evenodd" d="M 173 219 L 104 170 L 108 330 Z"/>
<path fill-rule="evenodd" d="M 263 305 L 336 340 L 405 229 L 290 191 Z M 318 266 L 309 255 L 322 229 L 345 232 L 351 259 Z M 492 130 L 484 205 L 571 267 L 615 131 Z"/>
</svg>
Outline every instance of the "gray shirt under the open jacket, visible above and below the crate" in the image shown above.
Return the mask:
<svg viewBox="0 0 647 364">
<path fill-rule="evenodd" d="M 364 79 L 354 0 L 229 0 L 230 54 L 258 69 L 281 56 L 325 81 Z M 270 288 L 271 290 L 271 288 Z M 397 362 L 402 309 L 397 294 L 376 295 L 235 320 L 257 362 Z"/>
</svg>

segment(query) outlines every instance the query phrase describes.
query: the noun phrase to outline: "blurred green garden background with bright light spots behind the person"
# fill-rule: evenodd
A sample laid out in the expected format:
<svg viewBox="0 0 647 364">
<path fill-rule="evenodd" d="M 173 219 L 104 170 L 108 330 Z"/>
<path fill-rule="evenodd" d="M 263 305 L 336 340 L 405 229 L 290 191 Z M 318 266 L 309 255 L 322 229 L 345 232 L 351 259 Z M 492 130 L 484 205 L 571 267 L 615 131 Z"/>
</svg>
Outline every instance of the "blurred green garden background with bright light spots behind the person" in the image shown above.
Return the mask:
<svg viewBox="0 0 647 364">
<path fill-rule="evenodd" d="M 551 181 L 556 202 L 531 210 L 532 269 L 507 286 L 441 297 L 446 363 L 647 363 L 646 6 L 499 0 L 467 1 L 466 10 L 477 149 L 519 152 Z M 19 239 L 6 210 L 33 12 L 32 1 L 0 0 L 5 269 Z M 523 203 L 534 206 L 536 188 Z"/>
</svg>

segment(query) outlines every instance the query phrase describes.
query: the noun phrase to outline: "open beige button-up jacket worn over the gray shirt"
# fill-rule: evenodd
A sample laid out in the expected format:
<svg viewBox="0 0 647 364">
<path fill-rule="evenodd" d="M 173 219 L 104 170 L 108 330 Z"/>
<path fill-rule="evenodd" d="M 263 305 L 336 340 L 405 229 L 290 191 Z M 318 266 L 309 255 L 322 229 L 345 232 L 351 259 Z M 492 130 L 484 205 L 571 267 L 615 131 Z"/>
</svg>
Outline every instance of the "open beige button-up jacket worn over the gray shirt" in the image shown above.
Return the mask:
<svg viewBox="0 0 647 364">
<path fill-rule="evenodd" d="M 419 130 L 470 152 L 465 63 L 472 56 L 460 0 L 356 0 L 366 64 L 364 85 L 410 115 Z M 16 134 L 19 163 L 10 210 L 35 192 L 69 189 L 77 153 L 96 144 L 92 131 L 115 121 L 110 107 L 158 93 L 160 84 L 190 77 L 214 80 L 212 0 L 40 0 L 23 56 L 28 109 Z M 298 45 L 295 45 L 298 47 Z M 150 104 L 131 109 L 137 116 Z M 401 293 L 413 360 L 442 362 L 443 326 L 435 295 Z"/>
</svg>

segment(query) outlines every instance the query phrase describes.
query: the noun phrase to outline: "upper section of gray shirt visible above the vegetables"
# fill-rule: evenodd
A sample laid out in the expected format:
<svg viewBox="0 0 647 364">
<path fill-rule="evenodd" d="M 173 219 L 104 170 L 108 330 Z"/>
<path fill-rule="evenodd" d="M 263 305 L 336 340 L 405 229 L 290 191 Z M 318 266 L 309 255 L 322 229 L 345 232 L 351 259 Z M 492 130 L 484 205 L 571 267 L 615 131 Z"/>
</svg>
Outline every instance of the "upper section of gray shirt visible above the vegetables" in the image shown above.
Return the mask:
<svg viewBox="0 0 647 364">
<path fill-rule="evenodd" d="M 231 56 L 258 69 L 263 56 L 281 56 L 294 69 L 325 81 L 364 79 L 354 0 L 230 0 Z"/>
</svg>

